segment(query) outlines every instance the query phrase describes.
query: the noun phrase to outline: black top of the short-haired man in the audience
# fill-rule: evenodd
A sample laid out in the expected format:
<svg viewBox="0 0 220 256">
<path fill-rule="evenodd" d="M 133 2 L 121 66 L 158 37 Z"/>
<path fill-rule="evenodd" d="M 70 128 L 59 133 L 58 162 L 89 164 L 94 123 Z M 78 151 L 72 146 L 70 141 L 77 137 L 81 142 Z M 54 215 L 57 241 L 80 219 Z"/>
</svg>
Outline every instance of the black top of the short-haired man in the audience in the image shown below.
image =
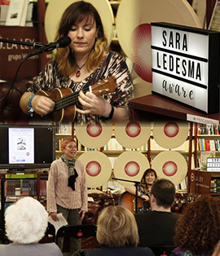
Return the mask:
<svg viewBox="0 0 220 256">
<path fill-rule="evenodd" d="M 139 246 L 174 245 L 178 214 L 153 210 L 134 217 L 139 228 Z"/>
</svg>

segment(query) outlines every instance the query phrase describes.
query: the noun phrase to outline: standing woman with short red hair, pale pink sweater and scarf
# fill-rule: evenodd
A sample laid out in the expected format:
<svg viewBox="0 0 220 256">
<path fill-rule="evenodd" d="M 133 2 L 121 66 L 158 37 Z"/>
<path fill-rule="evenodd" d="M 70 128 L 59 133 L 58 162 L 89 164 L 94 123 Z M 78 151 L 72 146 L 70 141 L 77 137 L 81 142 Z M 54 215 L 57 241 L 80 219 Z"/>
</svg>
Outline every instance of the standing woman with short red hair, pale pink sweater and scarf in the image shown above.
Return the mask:
<svg viewBox="0 0 220 256">
<path fill-rule="evenodd" d="M 62 213 L 69 225 L 81 225 L 87 211 L 86 173 L 81 161 L 75 159 L 74 139 L 64 139 L 61 150 L 64 154 L 52 162 L 49 172 L 47 211 L 55 221 L 59 220 L 57 214 Z M 80 240 L 72 240 L 72 249 L 80 249 Z"/>
</svg>

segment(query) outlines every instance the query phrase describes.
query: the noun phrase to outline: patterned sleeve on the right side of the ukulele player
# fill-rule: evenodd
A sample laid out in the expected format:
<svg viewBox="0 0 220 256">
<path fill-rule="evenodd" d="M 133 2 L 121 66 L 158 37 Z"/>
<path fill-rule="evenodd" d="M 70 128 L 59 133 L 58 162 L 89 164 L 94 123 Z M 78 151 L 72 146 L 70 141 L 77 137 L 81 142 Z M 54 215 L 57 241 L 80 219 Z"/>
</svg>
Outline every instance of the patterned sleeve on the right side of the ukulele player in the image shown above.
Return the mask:
<svg viewBox="0 0 220 256">
<path fill-rule="evenodd" d="M 134 87 L 125 57 L 112 54 L 108 64 L 108 77 L 116 77 L 117 90 L 108 95 L 108 101 L 115 107 L 127 107 L 129 99 L 134 98 Z"/>
</svg>

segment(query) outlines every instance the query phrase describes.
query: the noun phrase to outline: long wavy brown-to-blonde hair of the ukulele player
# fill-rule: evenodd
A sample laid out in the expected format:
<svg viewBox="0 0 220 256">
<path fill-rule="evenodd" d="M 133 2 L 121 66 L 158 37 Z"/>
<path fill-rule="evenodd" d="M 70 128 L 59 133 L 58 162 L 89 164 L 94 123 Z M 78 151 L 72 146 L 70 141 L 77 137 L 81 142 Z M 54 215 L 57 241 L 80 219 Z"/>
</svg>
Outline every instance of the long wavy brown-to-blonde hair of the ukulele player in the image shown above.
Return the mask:
<svg viewBox="0 0 220 256">
<path fill-rule="evenodd" d="M 98 11 L 96 11 L 95 7 L 93 7 L 90 2 L 73 2 L 67 7 L 59 22 L 55 41 L 60 37 L 67 36 L 73 24 L 77 24 L 82 20 L 95 21 L 96 29 L 98 29 L 98 37 L 95 40 L 95 45 L 92 51 L 90 51 L 89 59 L 86 62 L 86 69 L 90 71 L 101 64 L 104 53 L 108 51 L 108 40 L 103 31 L 102 20 Z M 71 73 L 77 71 L 76 60 L 69 46 L 59 48 L 55 54 L 55 60 L 58 63 L 58 71 L 62 76 L 68 77 Z"/>
</svg>

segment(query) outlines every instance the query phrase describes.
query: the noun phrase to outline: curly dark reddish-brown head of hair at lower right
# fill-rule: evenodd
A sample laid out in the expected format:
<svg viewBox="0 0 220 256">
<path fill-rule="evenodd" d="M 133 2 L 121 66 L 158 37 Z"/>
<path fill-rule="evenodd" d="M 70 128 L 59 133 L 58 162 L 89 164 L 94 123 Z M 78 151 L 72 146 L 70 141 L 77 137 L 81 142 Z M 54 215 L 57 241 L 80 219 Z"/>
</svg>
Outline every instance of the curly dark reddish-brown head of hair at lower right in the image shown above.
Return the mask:
<svg viewBox="0 0 220 256">
<path fill-rule="evenodd" d="M 220 204 L 212 196 L 201 196 L 184 208 L 178 218 L 174 244 L 194 255 L 210 255 L 220 239 Z"/>
</svg>

